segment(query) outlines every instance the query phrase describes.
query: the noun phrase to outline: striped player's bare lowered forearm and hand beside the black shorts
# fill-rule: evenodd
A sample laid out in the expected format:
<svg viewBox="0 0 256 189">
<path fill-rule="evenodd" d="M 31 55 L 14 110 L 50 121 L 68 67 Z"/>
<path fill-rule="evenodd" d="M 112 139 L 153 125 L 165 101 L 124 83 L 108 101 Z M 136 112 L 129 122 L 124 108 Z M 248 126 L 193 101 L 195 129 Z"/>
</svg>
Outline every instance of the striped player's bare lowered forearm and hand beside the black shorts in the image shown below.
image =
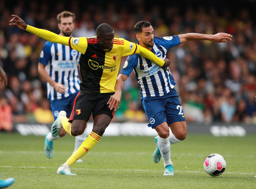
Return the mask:
<svg viewBox="0 0 256 189">
<path fill-rule="evenodd" d="M 117 79 L 116 79 L 116 85 L 115 85 L 115 94 L 113 94 L 109 100 L 108 103 L 109 104 L 109 108 L 110 110 L 112 110 L 113 108 L 115 108 L 115 111 L 117 110 L 117 108 L 119 108 L 119 104 L 121 102 L 121 97 L 122 97 L 122 87 L 123 87 L 123 83 L 124 81 L 128 78 L 127 75 L 124 74 L 119 74 Z"/>
</svg>

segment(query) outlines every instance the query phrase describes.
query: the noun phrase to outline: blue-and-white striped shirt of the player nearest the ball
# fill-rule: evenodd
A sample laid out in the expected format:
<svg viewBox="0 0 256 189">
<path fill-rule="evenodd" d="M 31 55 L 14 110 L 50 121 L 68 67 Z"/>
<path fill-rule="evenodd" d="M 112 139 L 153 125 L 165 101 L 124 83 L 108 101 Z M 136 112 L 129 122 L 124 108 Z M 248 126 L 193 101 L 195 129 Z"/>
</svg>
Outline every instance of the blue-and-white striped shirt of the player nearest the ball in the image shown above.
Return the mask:
<svg viewBox="0 0 256 189">
<path fill-rule="evenodd" d="M 154 37 L 152 52 L 158 58 L 164 60 L 168 49 L 179 44 L 180 38 L 178 35 Z M 163 96 L 170 92 L 176 84 L 169 68 L 164 71 L 158 64 L 140 56 L 140 54 L 130 55 L 126 59 L 120 74 L 129 76 L 132 70 L 139 83 L 141 97 Z"/>
</svg>

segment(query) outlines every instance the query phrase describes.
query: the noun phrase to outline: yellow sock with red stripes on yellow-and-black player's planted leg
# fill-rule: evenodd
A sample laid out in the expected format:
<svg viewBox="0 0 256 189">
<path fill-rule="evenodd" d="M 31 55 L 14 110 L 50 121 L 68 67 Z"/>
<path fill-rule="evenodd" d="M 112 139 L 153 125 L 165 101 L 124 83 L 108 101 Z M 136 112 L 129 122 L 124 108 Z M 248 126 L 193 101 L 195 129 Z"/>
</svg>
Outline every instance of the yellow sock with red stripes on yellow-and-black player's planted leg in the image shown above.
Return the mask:
<svg viewBox="0 0 256 189">
<path fill-rule="evenodd" d="M 91 132 L 90 135 L 81 144 L 81 146 L 76 150 L 76 152 L 72 154 L 63 165 L 73 165 L 77 160 L 89 152 L 92 147 L 100 140 L 100 138 L 101 137 L 99 135 Z"/>
</svg>

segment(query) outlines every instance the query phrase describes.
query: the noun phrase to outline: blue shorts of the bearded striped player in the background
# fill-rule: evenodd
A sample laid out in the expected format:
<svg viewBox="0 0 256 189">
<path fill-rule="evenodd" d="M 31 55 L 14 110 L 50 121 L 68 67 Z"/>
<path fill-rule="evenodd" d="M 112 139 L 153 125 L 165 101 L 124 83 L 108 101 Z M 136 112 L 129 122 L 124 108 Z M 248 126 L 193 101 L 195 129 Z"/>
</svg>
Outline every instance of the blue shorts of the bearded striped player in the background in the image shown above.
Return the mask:
<svg viewBox="0 0 256 189">
<path fill-rule="evenodd" d="M 67 112 L 67 117 L 70 116 L 73 109 L 73 102 L 78 92 L 79 91 L 76 91 L 74 94 L 69 95 L 67 98 L 50 100 L 54 120 L 57 118 L 61 110 Z"/>
</svg>

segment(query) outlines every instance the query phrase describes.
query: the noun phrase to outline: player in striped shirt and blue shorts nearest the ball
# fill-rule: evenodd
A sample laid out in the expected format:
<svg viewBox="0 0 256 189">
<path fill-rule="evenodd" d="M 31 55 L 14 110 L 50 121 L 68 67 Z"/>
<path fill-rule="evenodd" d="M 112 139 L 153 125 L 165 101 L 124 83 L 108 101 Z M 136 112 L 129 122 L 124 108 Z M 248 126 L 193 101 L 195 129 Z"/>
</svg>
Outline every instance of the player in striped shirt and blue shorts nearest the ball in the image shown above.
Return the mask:
<svg viewBox="0 0 256 189">
<path fill-rule="evenodd" d="M 166 58 L 168 49 L 187 41 L 210 40 L 227 42 L 231 35 L 218 33 L 204 35 L 188 33 L 167 37 L 154 37 L 154 30 L 150 22 L 140 21 L 134 26 L 139 44 L 156 54 L 160 59 Z M 173 175 L 170 144 L 175 144 L 186 138 L 187 125 L 185 114 L 180 104 L 178 94 L 173 88 L 176 84 L 171 71 L 161 69 L 155 62 L 139 55 L 129 56 L 117 77 L 115 94 L 108 100 L 110 109 L 116 110 L 121 101 L 121 88 L 132 70 L 140 86 L 143 107 L 149 119 L 148 127 L 155 129 L 156 150 L 153 154 L 154 162 L 158 163 L 161 156 L 164 161 L 164 175 Z M 171 131 L 169 130 L 171 129 Z"/>
</svg>

